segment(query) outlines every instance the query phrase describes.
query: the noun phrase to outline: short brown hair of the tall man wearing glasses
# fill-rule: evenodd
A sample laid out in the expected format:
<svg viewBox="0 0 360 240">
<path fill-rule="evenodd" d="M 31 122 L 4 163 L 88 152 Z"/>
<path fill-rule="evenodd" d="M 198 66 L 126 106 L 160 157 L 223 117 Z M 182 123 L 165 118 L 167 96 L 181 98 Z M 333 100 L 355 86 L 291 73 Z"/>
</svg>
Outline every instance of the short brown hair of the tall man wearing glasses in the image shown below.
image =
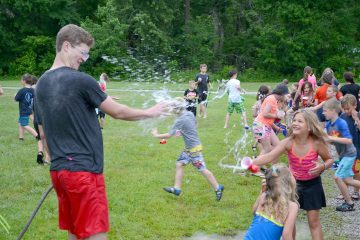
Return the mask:
<svg viewBox="0 0 360 240">
<path fill-rule="evenodd" d="M 65 41 L 68 41 L 72 46 L 85 43 L 89 47 L 92 47 L 95 42 L 90 33 L 75 24 L 68 24 L 60 29 L 56 35 L 56 52 L 61 51 Z"/>
</svg>

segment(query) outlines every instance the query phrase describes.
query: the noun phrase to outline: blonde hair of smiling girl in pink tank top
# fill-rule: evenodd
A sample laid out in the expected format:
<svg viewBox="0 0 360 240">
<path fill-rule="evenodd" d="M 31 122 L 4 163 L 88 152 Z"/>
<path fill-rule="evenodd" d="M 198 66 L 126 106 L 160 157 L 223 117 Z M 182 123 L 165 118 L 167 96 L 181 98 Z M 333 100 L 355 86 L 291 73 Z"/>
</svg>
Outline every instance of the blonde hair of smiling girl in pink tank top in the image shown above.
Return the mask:
<svg viewBox="0 0 360 240">
<path fill-rule="evenodd" d="M 311 111 L 310 109 L 303 108 L 299 109 L 294 113 L 293 119 L 296 117 L 296 115 L 302 114 L 302 116 L 305 119 L 305 123 L 309 128 L 309 135 L 319 140 L 323 144 L 327 144 L 325 141 L 325 138 L 327 137 L 327 134 L 324 132 L 323 128 L 321 127 L 319 123 L 319 119 L 317 118 L 316 114 Z M 292 131 L 292 128 L 289 129 L 289 137 L 294 138 L 294 134 Z"/>
</svg>

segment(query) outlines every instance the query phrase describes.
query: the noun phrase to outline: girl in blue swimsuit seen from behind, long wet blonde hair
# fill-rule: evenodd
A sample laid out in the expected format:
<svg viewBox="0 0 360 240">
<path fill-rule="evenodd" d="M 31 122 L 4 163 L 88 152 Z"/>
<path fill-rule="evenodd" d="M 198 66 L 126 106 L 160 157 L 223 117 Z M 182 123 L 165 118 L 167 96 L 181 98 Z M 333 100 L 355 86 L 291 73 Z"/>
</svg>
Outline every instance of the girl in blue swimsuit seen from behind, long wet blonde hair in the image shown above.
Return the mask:
<svg viewBox="0 0 360 240">
<path fill-rule="evenodd" d="M 253 206 L 254 219 L 244 240 L 294 239 L 299 205 L 296 181 L 284 164 L 265 173 L 265 186 Z"/>
</svg>

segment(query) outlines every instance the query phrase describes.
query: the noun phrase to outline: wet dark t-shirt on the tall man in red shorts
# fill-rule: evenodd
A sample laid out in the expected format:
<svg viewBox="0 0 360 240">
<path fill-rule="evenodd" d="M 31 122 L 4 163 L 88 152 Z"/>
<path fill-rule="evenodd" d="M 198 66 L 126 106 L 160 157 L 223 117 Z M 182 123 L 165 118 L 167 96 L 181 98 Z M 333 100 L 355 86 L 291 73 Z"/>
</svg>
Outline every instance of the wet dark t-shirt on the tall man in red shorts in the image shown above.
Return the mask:
<svg viewBox="0 0 360 240">
<path fill-rule="evenodd" d="M 96 80 L 61 67 L 41 76 L 35 95 L 35 112 L 50 151 L 50 170 L 102 173 L 103 140 L 95 108 L 107 95 Z"/>
</svg>

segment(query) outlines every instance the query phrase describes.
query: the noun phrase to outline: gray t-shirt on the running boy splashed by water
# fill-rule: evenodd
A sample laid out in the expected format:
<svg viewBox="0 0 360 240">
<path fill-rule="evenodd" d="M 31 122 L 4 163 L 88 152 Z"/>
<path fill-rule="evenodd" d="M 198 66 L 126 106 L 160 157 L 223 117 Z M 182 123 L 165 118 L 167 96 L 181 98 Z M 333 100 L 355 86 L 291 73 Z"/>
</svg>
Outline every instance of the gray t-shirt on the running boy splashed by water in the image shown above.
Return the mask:
<svg viewBox="0 0 360 240">
<path fill-rule="evenodd" d="M 174 125 L 170 129 L 170 134 L 173 136 L 179 130 L 183 136 L 185 147 L 191 149 L 200 145 L 200 140 L 196 130 L 196 120 L 192 112 L 184 111 L 176 119 Z"/>
</svg>

